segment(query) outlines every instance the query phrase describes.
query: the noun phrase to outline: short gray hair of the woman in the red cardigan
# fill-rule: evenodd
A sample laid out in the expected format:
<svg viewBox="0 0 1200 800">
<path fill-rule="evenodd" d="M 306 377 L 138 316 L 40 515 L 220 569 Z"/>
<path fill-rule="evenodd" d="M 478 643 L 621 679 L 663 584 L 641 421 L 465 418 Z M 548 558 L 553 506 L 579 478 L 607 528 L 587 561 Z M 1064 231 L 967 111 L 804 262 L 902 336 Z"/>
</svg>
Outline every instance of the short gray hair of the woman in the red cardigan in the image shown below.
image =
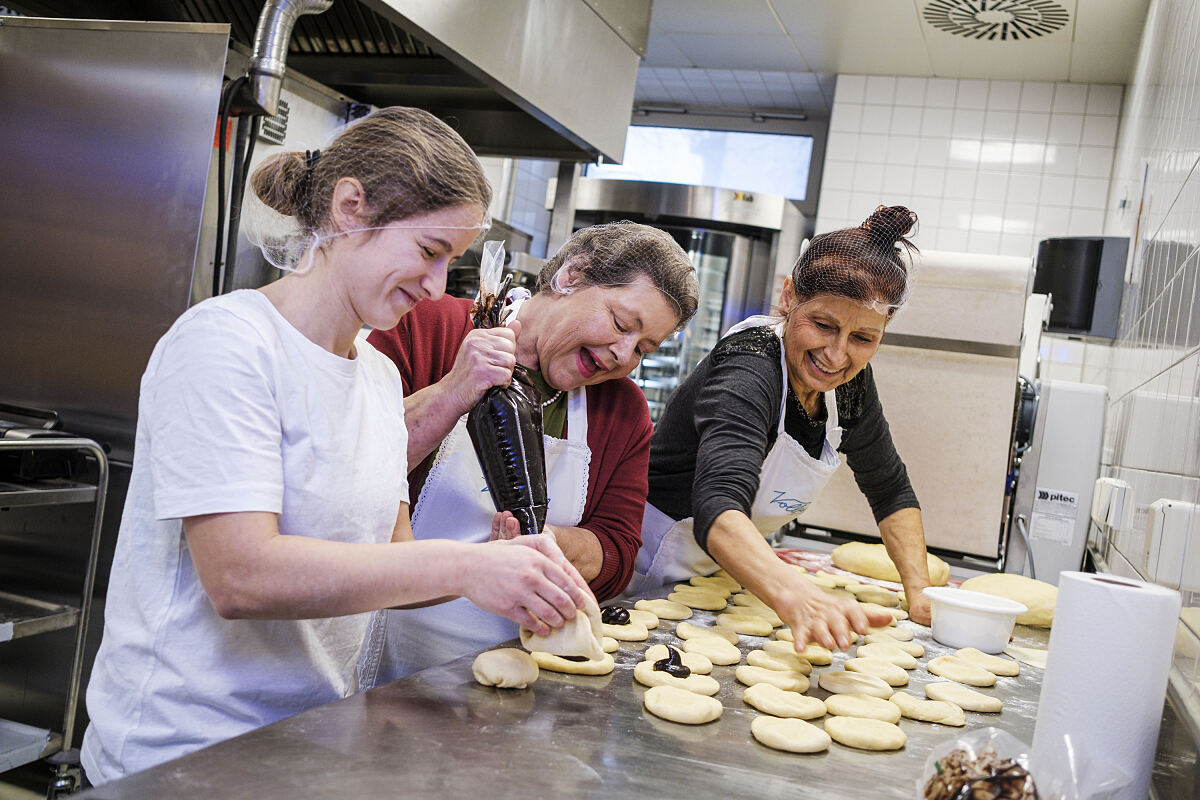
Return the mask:
<svg viewBox="0 0 1200 800">
<path fill-rule="evenodd" d="M 626 285 L 644 275 L 678 309 L 676 330 L 683 330 L 700 303 L 696 267 L 671 234 L 658 228 L 622 219 L 576 230 L 541 267 L 534 291 L 562 291 L 558 273 L 568 264 L 580 275 L 576 285 L 584 287 Z"/>
</svg>

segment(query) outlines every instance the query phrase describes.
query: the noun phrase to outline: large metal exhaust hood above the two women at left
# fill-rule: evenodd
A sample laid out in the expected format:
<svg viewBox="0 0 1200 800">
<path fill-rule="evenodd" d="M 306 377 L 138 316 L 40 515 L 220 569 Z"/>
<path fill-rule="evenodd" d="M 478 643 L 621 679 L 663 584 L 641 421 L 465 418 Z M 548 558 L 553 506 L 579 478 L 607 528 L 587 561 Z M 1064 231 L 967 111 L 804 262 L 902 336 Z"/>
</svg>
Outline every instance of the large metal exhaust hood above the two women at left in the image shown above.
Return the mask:
<svg viewBox="0 0 1200 800">
<path fill-rule="evenodd" d="M 78 0 L 11 0 L 77 17 Z M 262 0 L 114 0 L 107 19 L 228 23 L 247 48 Z M 296 20 L 287 66 L 362 103 L 416 106 L 481 155 L 620 161 L 650 0 L 334 0 Z"/>
</svg>

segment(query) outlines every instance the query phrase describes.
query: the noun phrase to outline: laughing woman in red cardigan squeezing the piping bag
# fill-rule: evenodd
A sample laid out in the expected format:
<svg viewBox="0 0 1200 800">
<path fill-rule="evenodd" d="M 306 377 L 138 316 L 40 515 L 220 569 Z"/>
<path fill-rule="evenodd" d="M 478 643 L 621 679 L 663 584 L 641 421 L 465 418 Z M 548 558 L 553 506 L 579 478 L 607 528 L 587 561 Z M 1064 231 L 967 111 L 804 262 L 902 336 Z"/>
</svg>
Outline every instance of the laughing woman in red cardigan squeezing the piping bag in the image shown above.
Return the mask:
<svg viewBox="0 0 1200 800">
<path fill-rule="evenodd" d="M 524 293 L 528 295 L 528 293 Z M 510 295 L 510 299 L 514 299 Z M 470 446 L 466 414 L 515 365 L 544 398 L 546 528 L 601 601 L 624 590 L 641 546 L 653 426 L 628 378 L 683 327 L 698 301 L 688 255 L 656 228 L 630 222 L 577 231 L 516 297 L 516 321 L 473 330 L 470 301 L 425 301 L 368 337 L 400 368 L 408 423 L 413 534 L 487 541 L 510 535 Z M 364 687 L 476 652 L 517 626 L 464 600 L 377 615 L 361 660 Z"/>
</svg>

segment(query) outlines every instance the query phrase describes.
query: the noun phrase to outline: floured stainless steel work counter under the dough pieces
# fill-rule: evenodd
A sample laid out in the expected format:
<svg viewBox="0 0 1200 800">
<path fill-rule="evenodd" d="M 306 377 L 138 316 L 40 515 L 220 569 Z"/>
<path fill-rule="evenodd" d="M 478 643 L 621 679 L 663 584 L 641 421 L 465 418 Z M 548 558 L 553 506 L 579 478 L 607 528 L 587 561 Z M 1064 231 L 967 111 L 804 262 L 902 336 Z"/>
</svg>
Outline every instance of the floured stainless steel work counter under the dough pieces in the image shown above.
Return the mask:
<svg viewBox="0 0 1200 800">
<path fill-rule="evenodd" d="M 696 612 L 692 622 L 710 622 Z M 950 649 L 911 622 L 926 655 L 905 691 L 924 697 L 938 680 L 925 662 Z M 677 643 L 666 620 L 646 643 L 623 643 L 613 673 L 599 678 L 542 672 L 524 690 L 479 686 L 470 657 L 330 703 L 162 766 L 94 789 L 86 798 L 605 798 L 787 796 L 914 798 L 930 748 L 962 730 L 1002 728 L 1030 742 L 1042 670 L 1022 664 L 1000 678 L 1001 714 L 967 712 L 967 727 L 904 720 L 902 751 L 871 753 L 834 742 L 826 753 L 797 756 L 756 742 L 758 714 L 742 700 L 734 667 L 716 667 L 720 720 L 704 726 L 666 722 L 642 709 L 634 666 L 649 644 Z M 1019 626 L 1018 643 L 1045 646 L 1048 631 Z M 743 636 L 742 650 L 761 646 Z M 847 656 L 814 672 L 838 669 Z M 821 724 L 820 720 L 814 721 Z"/>
</svg>

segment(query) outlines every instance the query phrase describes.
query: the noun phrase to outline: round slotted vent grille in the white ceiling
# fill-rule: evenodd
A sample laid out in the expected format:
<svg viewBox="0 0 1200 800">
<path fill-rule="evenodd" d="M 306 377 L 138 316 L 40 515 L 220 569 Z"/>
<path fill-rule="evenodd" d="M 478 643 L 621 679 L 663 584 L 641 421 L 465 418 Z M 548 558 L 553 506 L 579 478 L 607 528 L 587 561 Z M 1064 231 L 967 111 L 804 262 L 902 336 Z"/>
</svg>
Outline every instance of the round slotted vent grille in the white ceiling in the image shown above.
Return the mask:
<svg viewBox="0 0 1200 800">
<path fill-rule="evenodd" d="M 1046 36 L 1067 25 L 1067 10 L 1054 0 L 932 0 L 925 22 L 934 28 L 983 41 Z"/>
</svg>

